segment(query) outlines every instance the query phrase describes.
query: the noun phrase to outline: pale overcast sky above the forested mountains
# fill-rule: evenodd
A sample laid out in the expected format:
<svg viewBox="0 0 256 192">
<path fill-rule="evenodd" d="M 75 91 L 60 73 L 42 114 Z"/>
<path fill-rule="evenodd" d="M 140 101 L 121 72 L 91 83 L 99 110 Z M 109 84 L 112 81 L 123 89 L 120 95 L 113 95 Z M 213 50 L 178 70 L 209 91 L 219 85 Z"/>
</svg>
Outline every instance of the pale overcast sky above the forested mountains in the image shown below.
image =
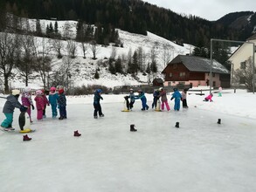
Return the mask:
<svg viewBox="0 0 256 192">
<path fill-rule="evenodd" d="M 256 11 L 256 0 L 144 0 L 144 2 L 210 21 L 218 20 L 231 12 Z"/>
</svg>

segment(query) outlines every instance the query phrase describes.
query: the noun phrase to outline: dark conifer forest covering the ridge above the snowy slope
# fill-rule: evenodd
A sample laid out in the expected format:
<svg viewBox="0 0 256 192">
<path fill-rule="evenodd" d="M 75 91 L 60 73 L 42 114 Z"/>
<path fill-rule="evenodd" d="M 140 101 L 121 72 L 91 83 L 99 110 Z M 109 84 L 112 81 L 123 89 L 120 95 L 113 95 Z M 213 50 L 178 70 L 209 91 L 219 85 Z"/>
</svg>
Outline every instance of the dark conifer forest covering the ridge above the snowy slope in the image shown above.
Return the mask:
<svg viewBox="0 0 256 192">
<path fill-rule="evenodd" d="M 246 40 L 251 35 L 250 30 L 234 30 L 220 22 L 182 16 L 141 0 L 1 0 L 0 7 L 2 16 L 7 11 L 18 17 L 80 20 L 143 35 L 150 31 L 179 45 L 209 46 L 211 38 Z M 1 15 L 0 29 L 4 29 Z"/>
</svg>

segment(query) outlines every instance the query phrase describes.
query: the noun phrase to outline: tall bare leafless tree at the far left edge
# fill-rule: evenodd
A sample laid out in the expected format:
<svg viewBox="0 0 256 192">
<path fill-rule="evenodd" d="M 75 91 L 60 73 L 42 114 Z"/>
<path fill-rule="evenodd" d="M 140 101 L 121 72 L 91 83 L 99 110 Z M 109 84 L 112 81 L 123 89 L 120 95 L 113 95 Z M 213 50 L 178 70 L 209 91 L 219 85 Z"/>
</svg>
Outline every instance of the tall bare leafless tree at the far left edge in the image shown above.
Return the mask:
<svg viewBox="0 0 256 192">
<path fill-rule="evenodd" d="M 0 33 L 0 74 L 3 77 L 4 92 L 9 93 L 9 79 L 17 64 L 20 53 L 19 36 L 6 32 Z"/>
</svg>

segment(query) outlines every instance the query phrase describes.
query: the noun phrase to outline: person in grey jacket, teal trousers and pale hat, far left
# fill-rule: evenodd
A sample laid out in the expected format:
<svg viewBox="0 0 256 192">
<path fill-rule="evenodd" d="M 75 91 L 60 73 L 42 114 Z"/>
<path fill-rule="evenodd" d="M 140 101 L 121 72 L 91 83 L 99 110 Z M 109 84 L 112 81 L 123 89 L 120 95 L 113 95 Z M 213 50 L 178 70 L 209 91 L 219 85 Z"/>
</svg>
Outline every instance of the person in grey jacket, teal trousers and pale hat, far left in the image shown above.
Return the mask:
<svg viewBox="0 0 256 192">
<path fill-rule="evenodd" d="M 6 98 L 7 100 L 3 106 L 3 113 L 6 119 L 3 120 L 1 127 L 6 131 L 14 130 L 12 127 L 14 109 L 19 108 L 21 112 L 25 112 L 27 110 L 27 107 L 22 106 L 20 102 L 18 102 L 19 93 L 20 91 L 17 89 L 12 90 L 10 95 Z"/>
</svg>

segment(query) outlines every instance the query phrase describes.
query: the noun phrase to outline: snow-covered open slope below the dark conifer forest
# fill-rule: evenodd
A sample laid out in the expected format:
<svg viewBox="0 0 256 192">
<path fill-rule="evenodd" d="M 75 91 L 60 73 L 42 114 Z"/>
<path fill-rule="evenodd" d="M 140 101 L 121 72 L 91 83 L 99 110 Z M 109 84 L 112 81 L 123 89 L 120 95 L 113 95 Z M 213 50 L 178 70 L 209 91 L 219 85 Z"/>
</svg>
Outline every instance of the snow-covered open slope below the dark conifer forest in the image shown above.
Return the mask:
<svg viewBox="0 0 256 192">
<path fill-rule="evenodd" d="M 44 31 L 45 26 L 47 24 L 55 23 L 55 21 L 52 20 L 41 20 L 40 24 Z M 76 32 L 76 21 L 57 21 L 58 22 L 58 29 L 59 32 L 63 35 L 66 25 L 69 25 L 69 32 L 73 34 L 73 38 L 75 37 Z M 31 19 L 30 20 L 30 26 L 32 30 L 35 30 L 36 26 L 36 20 Z M 166 51 L 169 52 L 169 59 L 175 58 L 178 54 L 188 54 L 193 50 L 193 47 L 191 45 L 176 45 L 175 43 L 165 39 L 156 36 L 155 34 L 148 31 L 147 36 L 139 35 L 139 34 L 133 34 L 129 33 L 127 31 L 119 31 L 119 37 L 121 39 L 121 42 L 123 44 L 123 47 L 116 47 L 116 58 L 117 57 L 127 57 L 128 51 L 132 51 L 132 53 L 138 49 L 138 47 L 142 47 L 142 50 L 144 51 L 145 55 L 149 57 L 150 51 L 153 47 L 155 47 L 157 52 L 157 65 L 158 65 L 158 74 L 156 74 L 156 77 L 161 76 L 161 72 L 163 71 L 163 68 L 166 65 L 166 62 L 163 60 L 163 52 L 166 53 Z M 48 39 L 45 39 L 48 40 Z M 51 40 L 51 39 L 49 39 Z M 42 41 L 41 38 L 37 38 L 37 41 Z M 63 50 L 61 51 L 63 55 L 66 55 L 66 41 L 62 41 L 63 43 Z M 49 44 L 50 45 L 50 44 Z M 138 74 L 138 79 L 140 79 L 140 82 L 138 82 L 136 79 L 132 78 L 131 75 L 121 75 L 116 74 L 113 75 L 110 72 L 108 72 L 107 65 L 102 65 L 103 61 L 106 60 L 106 58 L 110 58 L 111 54 L 113 52 L 113 46 L 109 45 L 107 47 L 100 46 L 98 47 L 96 60 L 93 60 L 93 52 L 88 49 L 86 52 L 86 58 L 83 58 L 83 51 L 80 46 L 80 43 L 77 43 L 77 57 L 73 59 L 72 61 L 72 70 L 71 73 L 71 81 L 73 82 L 73 86 L 87 86 L 87 85 L 102 85 L 107 87 L 114 87 L 114 86 L 129 86 L 129 85 L 138 85 L 142 83 L 148 83 L 148 77 L 143 76 L 142 73 Z M 56 54 L 52 51 L 52 54 Z M 57 59 L 57 56 L 52 55 L 52 65 L 53 70 L 58 71 L 59 65 L 64 63 L 64 58 Z M 145 60 L 145 63 L 149 63 L 149 58 Z M 100 79 L 94 79 L 94 74 L 96 70 L 99 70 Z M 152 81 L 152 78 L 151 78 Z M 22 83 L 21 79 L 16 79 L 11 81 L 11 86 L 19 88 L 17 86 L 20 86 Z M 40 79 L 33 79 L 30 82 L 30 86 L 42 86 L 42 83 Z M 36 87 L 35 87 L 36 88 Z"/>
</svg>

